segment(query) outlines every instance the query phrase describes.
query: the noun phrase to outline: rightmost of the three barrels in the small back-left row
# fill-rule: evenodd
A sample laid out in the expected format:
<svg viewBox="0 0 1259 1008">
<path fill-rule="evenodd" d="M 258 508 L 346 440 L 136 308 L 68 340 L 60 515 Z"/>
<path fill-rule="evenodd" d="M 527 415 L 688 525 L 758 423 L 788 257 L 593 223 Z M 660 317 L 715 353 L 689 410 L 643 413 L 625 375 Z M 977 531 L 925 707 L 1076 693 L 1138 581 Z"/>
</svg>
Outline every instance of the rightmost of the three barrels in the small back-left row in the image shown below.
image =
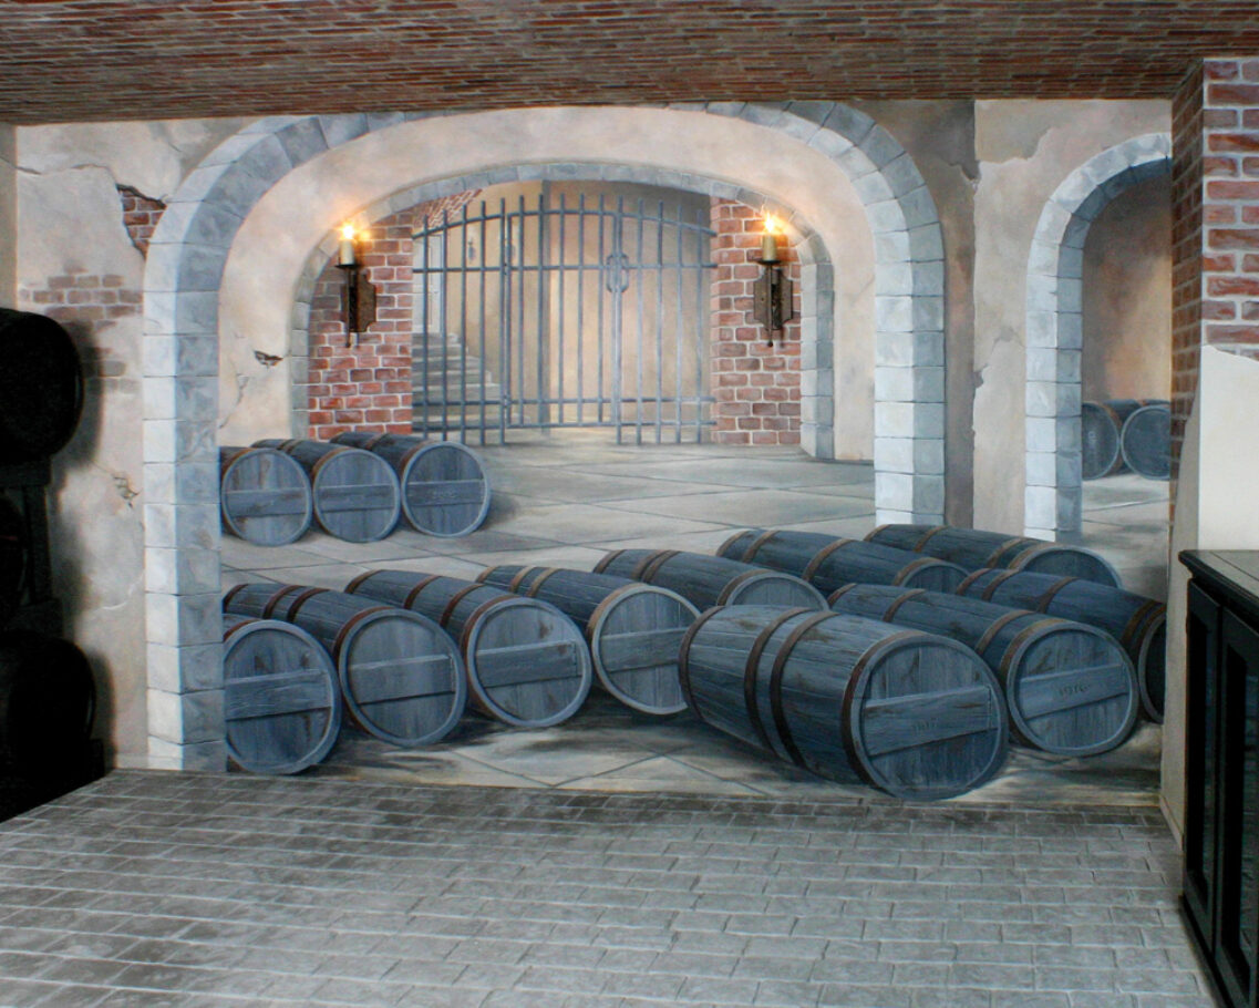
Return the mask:
<svg viewBox="0 0 1259 1008">
<path fill-rule="evenodd" d="M 402 484 L 402 513 L 417 532 L 456 537 L 476 532 L 490 513 L 485 464 L 457 441 L 350 431 L 334 444 L 379 455 Z"/>
</svg>

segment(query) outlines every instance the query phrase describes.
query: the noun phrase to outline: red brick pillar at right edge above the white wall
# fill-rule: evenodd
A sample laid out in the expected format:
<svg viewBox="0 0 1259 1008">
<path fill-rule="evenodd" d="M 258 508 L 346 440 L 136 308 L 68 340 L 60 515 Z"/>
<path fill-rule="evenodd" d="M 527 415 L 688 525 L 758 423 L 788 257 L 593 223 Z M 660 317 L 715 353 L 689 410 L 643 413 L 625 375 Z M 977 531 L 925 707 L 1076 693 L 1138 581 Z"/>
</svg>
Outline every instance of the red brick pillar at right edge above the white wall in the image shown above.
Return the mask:
<svg viewBox="0 0 1259 1008">
<path fill-rule="evenodd" d="M 1172 220 L 1175 466 L 1199 346 L 1259 358 L 1259 59 L 1205 60 L 1177 91 Z"/>
</svg>

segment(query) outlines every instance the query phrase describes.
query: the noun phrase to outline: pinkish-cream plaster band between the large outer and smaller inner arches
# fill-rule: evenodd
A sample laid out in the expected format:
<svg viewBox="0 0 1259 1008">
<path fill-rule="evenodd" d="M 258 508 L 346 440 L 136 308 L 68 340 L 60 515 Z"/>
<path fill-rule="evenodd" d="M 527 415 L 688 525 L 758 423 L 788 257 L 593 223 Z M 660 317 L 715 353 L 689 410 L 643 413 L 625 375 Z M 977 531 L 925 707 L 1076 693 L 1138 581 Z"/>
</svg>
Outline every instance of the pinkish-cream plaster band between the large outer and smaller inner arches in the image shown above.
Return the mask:
<svg viewBox="0 0 1259 1008">
<path fill-rule="evenodd" d="M 290 309 L 311 248 L 392 193 L 538 163 L 641 165 L 730 181 L 794 208 L 836 260 L 841 457 L 870 457 L 874 242 L 861 202 L 823 154 L 740 120 L 660 108 L 531 108 L 399 123 L 286 175 L 237 233 L 219 296 L 220 444 L 287 432 Z M 261 350 L 285 357 L 263 367 Z M 851 383 L 851 384 L 850 384 Z"/>
</svg>

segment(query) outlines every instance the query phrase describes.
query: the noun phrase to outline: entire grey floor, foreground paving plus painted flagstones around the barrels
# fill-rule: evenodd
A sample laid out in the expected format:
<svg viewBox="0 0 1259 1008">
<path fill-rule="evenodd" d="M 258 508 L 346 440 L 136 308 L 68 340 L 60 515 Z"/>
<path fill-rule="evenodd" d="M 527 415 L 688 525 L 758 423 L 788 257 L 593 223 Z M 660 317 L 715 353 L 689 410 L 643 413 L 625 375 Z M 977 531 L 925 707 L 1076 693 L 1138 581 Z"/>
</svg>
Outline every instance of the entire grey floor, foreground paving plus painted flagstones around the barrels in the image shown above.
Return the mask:
<svg viewBox="0 0 1259 1008">
<path fill-rule="evenodd" d="M 473 536 L 227 541 L 224 581 L 588 568 L 745 524 L 874 523 L 867 466 L 791 450 L 485 455 L 499 494 Z M 1081 538 L 1157 593 L 1165 512 L 1163 485 L 1092 484 Z M 963 799 L 906 805 L 596 698 L 419 752 L 346 733 L 296 779 L 117 771 L 0 824 L 0 1005 L 1209 1005 L 1158 742 L 1021 752 Z"/>
</svg>

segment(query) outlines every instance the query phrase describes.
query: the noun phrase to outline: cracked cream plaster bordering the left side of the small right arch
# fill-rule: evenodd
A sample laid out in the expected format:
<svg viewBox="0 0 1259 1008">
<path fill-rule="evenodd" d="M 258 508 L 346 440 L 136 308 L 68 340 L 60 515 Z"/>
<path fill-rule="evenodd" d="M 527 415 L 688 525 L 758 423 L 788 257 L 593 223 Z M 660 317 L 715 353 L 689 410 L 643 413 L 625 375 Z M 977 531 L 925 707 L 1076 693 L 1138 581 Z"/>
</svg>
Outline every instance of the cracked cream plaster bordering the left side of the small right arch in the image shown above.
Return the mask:
<svg viewBox="0 0 1259 1008">
<path fill-rule="evenodd" d="M 1024 528 L 1026 272 L 1041 210 L 1090 158 L 1170 129 L 1165 101 L 976 102 L 976 528 Z"/>
</svg>

